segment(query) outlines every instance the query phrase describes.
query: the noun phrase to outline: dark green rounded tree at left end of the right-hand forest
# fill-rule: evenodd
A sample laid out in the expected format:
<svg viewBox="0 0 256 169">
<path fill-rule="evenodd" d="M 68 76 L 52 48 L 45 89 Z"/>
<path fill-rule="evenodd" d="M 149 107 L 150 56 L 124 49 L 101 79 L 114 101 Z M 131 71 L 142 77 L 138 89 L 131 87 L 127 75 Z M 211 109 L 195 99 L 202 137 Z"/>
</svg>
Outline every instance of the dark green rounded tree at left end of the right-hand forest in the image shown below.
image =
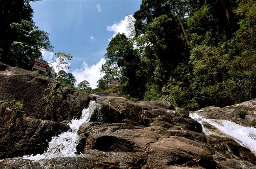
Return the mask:
<svg viewBox="0 0 256 169">
<path fill-rule="evenodd" d="M 119 88 L 122 94 L 143 98 L 142 86 L 145 84 L 139 78 L 140 58 L 132 41 L 124 33 L 118 33 L 107 46 L 105 57 L 120 69 Z"/>
</svg>

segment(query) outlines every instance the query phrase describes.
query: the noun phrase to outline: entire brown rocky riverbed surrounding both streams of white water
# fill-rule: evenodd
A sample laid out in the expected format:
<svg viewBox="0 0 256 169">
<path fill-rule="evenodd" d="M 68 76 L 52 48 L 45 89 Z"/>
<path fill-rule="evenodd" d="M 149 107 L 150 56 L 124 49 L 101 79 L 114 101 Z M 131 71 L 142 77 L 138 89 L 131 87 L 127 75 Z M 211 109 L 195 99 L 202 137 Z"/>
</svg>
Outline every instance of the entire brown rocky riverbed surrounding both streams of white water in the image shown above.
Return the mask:
<svg viewBox="0 0 256 169">
<path fill-rule="evenodd" d="M 205 135 L 188 111 L 169 102 L 89 95 L 4 64 L 0 64 L 0 79 L 0 100 L 21 101 L 24 107 L 15 116 L 6 107 L 0 109 L 0 167 L 256 167 L 250 149 L 233 138 Z M 48 150 L 51 138 L 70 131 L 68 123 L 73 117 L 79 118 L 91 101 L 99 106 L 76 131 L 75 156 L 23 157 Z M 254 105 L 248 101 L 199 112 L 207 118 L 229 119 L 255 128 Z"/>
</svg>

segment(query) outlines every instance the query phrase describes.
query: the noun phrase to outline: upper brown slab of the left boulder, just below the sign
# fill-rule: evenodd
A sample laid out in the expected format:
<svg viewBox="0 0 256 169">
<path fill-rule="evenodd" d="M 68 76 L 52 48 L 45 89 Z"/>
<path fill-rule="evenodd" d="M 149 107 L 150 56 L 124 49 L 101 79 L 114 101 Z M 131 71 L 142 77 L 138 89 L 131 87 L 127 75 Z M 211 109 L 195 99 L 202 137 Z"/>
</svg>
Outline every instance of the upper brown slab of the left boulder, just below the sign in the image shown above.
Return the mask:
<svg viewBox="0 0 256 169">
<path fill-rule="evenodd" d="M 66 88 L 56 80 L 1 64 L 0 100 L 23 102 L 26 113 L 37 119 L 61 122 L 79 118 L 93 96 Z"/>
</svg>

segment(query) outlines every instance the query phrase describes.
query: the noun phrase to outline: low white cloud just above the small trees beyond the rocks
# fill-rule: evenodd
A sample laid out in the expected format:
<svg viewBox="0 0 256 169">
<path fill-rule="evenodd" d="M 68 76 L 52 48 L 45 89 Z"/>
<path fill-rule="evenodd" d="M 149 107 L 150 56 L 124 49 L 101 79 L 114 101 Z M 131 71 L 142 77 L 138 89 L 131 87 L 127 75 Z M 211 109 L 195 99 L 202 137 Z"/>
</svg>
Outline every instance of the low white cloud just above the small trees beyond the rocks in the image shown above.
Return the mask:
<svg viewBox="0 0 256 169">
<path fill-rule="evenodd" d="M 97 64 L 88 66 L 84 61 L 80 69 L 75 69 L 75 71 L 72 72 L 77 79 L 76 85 L 87 80 L 92 88 L 97 88 L 97 81 L 104 76 L 104 74 L 100 74 L 100 69 L 105 62 L 106 60 L 102 58 Z"/>
</svg>

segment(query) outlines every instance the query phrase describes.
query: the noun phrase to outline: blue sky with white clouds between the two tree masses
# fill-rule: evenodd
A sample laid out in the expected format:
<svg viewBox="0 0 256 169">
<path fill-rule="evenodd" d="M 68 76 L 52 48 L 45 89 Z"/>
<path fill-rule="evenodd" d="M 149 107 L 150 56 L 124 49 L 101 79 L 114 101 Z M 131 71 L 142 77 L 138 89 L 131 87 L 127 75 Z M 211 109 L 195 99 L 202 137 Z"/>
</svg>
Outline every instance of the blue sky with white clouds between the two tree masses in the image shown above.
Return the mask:
<svg viewBox="0 0 256 169">
<path fill-rule="evenodd" d="M 109 40 L 118 32 L 125 33 L 126 15 L 133 15 L 141 1 L 42 0 L 30 4 L 33 20 L 49 33 L 54 52 L 73 55 L 69 72 L 77 83 L 87 80 L 95 88 Z M 49 61 L 53 53 L 43 52 L 44 59 Z"/>
</svg>

